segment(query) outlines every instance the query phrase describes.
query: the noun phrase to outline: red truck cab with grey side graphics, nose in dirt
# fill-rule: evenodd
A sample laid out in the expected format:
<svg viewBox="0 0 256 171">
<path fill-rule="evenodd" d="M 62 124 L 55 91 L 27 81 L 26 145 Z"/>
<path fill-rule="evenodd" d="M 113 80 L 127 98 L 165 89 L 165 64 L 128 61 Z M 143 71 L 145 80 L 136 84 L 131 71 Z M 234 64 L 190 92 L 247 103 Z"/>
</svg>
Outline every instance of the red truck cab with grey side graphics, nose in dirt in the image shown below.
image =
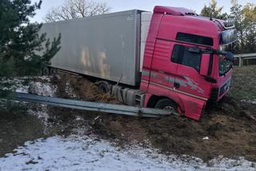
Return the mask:
<svg viewBox="0 0 256 171">
<path fill-rule="evenodd" d="M 146 39 L 140 89 L 144 107 L 172 110 L 198 120 L 208 101 L 230 87 L 234 26 L 185 8 L 155 6 Z"/>
</svg>

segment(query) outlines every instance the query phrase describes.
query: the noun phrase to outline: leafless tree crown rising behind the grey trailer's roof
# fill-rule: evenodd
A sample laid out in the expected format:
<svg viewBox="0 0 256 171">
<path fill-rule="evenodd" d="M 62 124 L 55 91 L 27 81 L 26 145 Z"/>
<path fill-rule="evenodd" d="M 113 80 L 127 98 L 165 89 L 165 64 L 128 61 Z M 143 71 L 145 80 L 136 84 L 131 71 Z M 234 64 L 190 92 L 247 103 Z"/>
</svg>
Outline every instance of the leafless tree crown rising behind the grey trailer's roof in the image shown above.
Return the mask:
<svg viewBox="0 0 256 171">
<path fill-rule="evenodd" d="M 53 8 L 46 14 L 45 22 L 57 22 L 73 18 L 85 18 L 110 11 L 106 2 L 93 0 L 66 0 L 63 6 Z"/>
</svg>

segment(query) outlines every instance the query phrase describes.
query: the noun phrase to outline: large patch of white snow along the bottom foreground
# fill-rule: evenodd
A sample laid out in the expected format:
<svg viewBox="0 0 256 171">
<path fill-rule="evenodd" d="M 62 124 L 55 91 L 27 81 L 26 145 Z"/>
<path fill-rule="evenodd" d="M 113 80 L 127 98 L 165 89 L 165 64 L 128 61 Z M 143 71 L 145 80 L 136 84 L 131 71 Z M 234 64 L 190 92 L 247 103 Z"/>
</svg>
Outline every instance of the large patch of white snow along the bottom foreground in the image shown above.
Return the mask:
<svg viewBox="0 0 256 171">
<path fill-rule="evenodd" d="M 166 156 L 139 146 L 120 149 L 97 137 L 71 135 L 27 141 L 0 158 L 0 170 L 255 170 L 244 159 Z"/>
</svg>

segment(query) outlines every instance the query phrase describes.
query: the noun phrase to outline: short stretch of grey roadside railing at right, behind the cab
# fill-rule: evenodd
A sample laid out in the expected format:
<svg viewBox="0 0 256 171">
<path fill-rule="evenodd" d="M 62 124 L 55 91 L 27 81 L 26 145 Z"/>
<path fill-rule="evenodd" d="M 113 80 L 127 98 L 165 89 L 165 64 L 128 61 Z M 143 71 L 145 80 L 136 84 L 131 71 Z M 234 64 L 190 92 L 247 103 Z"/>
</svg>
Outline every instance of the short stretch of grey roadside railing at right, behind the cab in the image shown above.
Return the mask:
<svg viewBox="0 0 256 171">
<path fill-rule="evenodd" d="M 234 63 L 236 64 L 238 61 L 238 66 L 243 66 L 246 62 L 246 66 L 255 65 L 256 64 L 256 53 L 254 54 L 236 54 L 234 55 Z"/>
</svg>

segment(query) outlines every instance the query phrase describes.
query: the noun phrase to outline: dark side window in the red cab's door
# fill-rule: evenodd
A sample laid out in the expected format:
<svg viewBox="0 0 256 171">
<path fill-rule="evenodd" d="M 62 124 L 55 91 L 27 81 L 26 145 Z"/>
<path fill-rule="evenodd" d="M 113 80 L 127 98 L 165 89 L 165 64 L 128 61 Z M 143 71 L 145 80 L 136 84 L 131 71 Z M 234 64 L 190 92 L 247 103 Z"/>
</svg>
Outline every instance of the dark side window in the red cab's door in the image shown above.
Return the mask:
<svg viewBox="0 0 256 171">
<path fill-rule="evenodd" d="M 192 53 L 188 46 L 174 45 L 171 61 L 183 66 L 190 66 L 195 70 L 200 70 L 202 54 Z"/>
</svg>

